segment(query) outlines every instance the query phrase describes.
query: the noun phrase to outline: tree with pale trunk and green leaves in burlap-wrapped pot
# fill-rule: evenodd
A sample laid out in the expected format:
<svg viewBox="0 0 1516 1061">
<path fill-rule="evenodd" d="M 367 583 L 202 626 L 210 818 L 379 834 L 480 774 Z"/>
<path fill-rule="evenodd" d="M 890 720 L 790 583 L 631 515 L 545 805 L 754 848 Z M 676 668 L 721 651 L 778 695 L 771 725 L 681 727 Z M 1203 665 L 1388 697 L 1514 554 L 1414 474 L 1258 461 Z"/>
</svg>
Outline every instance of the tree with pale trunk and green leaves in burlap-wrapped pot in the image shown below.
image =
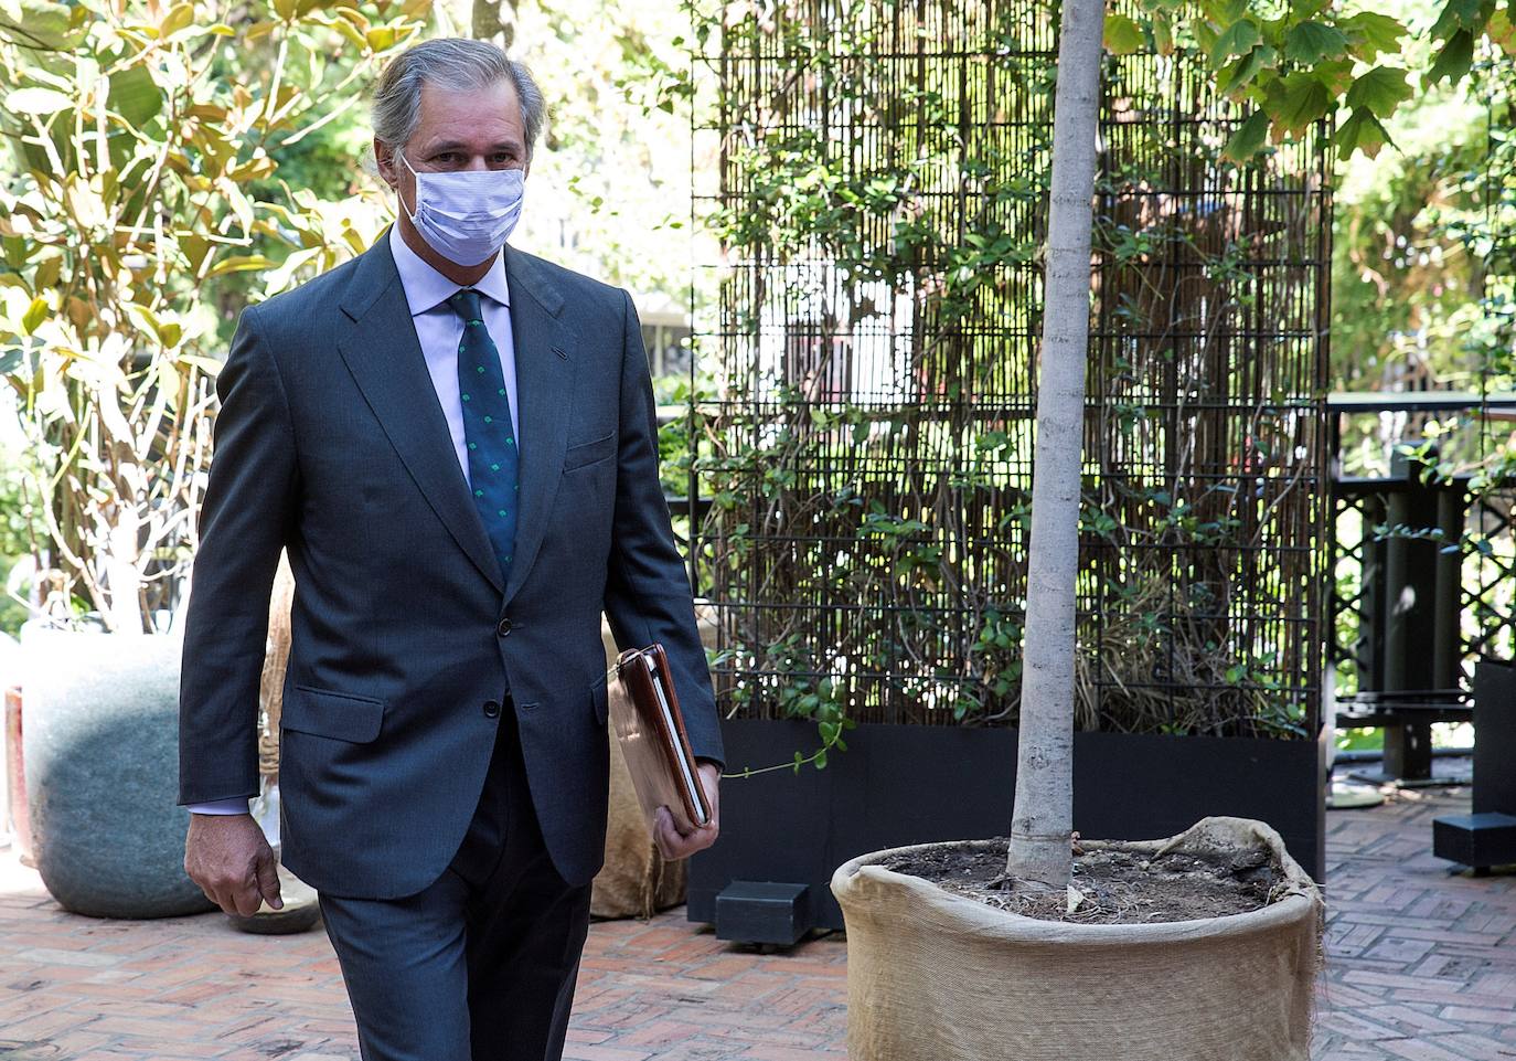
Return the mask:
<svg viewBox="0 0 1516 1061">
<path fill-rule="evenodd" d="M 1331 114 L 1343 88 L 1351 114 L 1339 146 L 1372 152 L 1384 141 L 1378 118 L 1408 94 L 1404 71 L 1375 67 L 1352 80 L 1342 79 L 1352 64 L 1334 65 L 1348 53 L 1372 61 L 1389 50 L 1366 39 L 1364 23 L 1334 21 L 1319 5 L 1270 23 L 1242 5 L 1199 8 L 1192 32 L 1208 46 L 1222 82 L 1252 105 L 1228 155 L 1260 150 L 1270 124 L 1283 134 L 1302 114 Z M 1167 33 L 1167 12 L 1152 9 L 1149 33 Z M 838 868 L 832 889 L 849 930 L 849 1046 L 860 1061 L 1308 1056 L 1322 902 L 1272 829 L 1207 818 L 1167 841 L 1081 847 L 1072 827 L 1079 461 L 1104 14 L 1102 3 L 1084 0 L 1066 0 L 1061 14 L 1011 835 L 1008 844 L 876 852 Z M 1466 61 L 1458 68 L 1458 53 L 1472 44 L 1472 21 L 1448 14 L 1439 23 L 1448 44 L 1433 79 L 1467 70 Z M 1104 38 L 1128 47 L 1143 39 L 1125 15 L 1113 17 Z M 1283 74 L 1281 56 L 1293 67 Z M 1286 97 L 1301 103 L 1302 85 L 1310 106 L 1284 109 Z M 991 864 L 990 871 L 975 870 L 976 859 Z M 1216 915 L 1192 893 L 1163 915 L 1140 903 L 1081 915 L 1092 896 L 1116 894 L 1110 879 L 1079 873 L 1085 861 L 1122 859 L 1126 868 L 1117 876 L 1163 877 L 1160 886 L 1179 891 L 1198 865 L 1222 867 L 1219 876 L 1234 879 L 1254 874 L 1261 886 L 1240 912 Z M 1166 873 L 1164 861 L 1187 870 Z M 967 879 L 978 886 L 964 888 Z"/>
</svg>

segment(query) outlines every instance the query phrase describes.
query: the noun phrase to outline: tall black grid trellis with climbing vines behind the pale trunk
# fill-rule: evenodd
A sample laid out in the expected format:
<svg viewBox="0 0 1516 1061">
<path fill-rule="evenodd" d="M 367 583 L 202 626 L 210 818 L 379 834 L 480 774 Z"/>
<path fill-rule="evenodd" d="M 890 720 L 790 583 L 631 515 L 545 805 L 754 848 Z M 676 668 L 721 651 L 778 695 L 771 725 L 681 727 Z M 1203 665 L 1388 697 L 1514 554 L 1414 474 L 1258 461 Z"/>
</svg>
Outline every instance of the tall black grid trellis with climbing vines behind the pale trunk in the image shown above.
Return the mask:
<svg viewBox="0 0 1516 1061">
<path fill-rule="evenodd" d="M 1014 724 L 1055 14 L 731 5 L 706 41 L 694 556 L 732 713 Z M 1237 170 L 1236 120 L 1182 55 L 1108 64 L 1085 727 L 1316 729 L 1326 153 Z"/>
</svg>

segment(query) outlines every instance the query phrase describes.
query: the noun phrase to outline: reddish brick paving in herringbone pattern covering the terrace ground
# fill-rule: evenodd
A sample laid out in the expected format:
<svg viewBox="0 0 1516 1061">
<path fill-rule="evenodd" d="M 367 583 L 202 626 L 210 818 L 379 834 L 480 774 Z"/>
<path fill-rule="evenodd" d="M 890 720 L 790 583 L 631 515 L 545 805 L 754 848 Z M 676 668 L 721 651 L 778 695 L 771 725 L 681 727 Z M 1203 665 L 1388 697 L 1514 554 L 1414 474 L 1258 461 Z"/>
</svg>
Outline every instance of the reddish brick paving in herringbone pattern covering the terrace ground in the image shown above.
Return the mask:
<svg viewBox="0 0 1516 1061">
<path fill-rule="evenodd" d="M 1431 818 L 1464 806 L 1437 792 L 1328 815 L 1317 1061 L 1516 1061 L 1516 874 L 1471 879 L 1431 856 Z M 565 1056 L 843 1058 L 844 962 L 837 937 L 761 955 L 682 911 L 597 924 Z M 218 914 L 71 917 L 0 856 L 0 1058 L 356 1056 L 323 935 L 249 937 Z"/>
</svg>

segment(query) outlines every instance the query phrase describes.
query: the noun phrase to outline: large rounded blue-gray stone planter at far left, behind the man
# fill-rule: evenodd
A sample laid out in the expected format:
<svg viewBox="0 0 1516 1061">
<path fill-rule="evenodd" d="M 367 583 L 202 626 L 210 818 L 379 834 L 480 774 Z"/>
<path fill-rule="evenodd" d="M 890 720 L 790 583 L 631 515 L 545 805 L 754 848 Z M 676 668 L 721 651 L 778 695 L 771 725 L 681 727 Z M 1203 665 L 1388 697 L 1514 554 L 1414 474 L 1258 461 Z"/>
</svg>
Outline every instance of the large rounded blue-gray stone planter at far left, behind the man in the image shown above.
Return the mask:
<svg viewBox="0 0 1516 1061">
<path fill-rule="evenodd" d="M 76 914 L 212 909 L 183 871 L 179 653 L 167 636 L 26 628 L 24 760 L 42 883 Z"/>
</svg>

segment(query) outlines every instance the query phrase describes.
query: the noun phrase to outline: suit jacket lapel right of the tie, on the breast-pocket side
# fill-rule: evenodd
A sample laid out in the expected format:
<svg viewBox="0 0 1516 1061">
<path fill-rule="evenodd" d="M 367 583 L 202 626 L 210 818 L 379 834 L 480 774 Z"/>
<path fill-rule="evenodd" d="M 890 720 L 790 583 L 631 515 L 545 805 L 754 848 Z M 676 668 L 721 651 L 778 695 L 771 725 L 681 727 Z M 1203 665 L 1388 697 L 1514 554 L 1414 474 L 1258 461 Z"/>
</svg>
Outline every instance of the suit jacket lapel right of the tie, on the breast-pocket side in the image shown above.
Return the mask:
<svg viewBox="0 0 1516 1061">
<path fill-rule="evenodd" d="M 573 411 L 576 337 L 558 319 L 564 301 L 529 255 L 505 249 L 515 342 L 515 416 L 522 425 L 522 513 L 505 603 L 522 587 L 537 559 L 562 480 Z"/>
</svg>

